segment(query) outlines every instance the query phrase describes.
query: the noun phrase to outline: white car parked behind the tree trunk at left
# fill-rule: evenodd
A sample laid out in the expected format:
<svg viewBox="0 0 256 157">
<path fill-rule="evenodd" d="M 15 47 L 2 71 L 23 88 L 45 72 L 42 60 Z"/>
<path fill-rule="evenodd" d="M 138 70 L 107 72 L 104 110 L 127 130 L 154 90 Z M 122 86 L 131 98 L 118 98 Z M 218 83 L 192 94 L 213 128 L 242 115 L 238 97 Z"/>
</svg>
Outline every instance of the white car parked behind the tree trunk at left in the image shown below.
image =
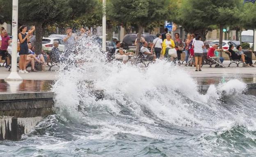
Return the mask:
<svg viewBox="0 0 256 157">
<path fill-rule="evenodd" d="M 43 51 L 51 51 L 53 49 L 53 41 L 59 42 L 59 51 L 64 51 L 64 41 L 62 38 L 43 38 L 42 49 Z"/>
</svg>

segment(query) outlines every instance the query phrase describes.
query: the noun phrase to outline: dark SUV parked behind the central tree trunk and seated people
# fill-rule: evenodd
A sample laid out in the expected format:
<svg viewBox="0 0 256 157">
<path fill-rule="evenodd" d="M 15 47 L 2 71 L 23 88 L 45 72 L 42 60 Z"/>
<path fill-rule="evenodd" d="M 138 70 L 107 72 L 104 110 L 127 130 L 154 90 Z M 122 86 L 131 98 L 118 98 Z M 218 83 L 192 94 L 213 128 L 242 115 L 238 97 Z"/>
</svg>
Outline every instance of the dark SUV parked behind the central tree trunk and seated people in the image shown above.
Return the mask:
<svg viewBox="0 0 256 157">
<path fill-rule="evenodd" d="M 153 40 L 156 38 L 156 36 L 152 34 L 142 34 L 142 37 L 145 38 L 147 42 L 153 42 Z M 137 34 L 126 34 L 123 38 L 124 49 L 135 51 L 136 46 L 134 45 L 134 42 L 136 38 Z"/>
</svg>

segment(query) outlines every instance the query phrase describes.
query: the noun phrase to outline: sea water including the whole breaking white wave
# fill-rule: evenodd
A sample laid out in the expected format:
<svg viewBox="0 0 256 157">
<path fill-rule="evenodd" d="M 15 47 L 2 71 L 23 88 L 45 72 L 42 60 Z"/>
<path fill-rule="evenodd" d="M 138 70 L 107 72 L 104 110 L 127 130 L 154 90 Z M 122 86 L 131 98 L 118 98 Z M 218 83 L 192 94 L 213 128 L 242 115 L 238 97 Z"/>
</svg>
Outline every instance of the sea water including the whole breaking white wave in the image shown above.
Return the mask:
<svg viewBox="0 0 256 157">
<path fill-rule="evenodd" d="M 203 95 L 168 62 L 105 63 L 100 46 L 80 44 L 76 57 L 86 63 L 62 67 L 53 86 L 56 114 L 18 142 L 1 141 L 1 157 L 255 157 L 256 97 L 244 94 L 245 83 Z"/>
</svg>

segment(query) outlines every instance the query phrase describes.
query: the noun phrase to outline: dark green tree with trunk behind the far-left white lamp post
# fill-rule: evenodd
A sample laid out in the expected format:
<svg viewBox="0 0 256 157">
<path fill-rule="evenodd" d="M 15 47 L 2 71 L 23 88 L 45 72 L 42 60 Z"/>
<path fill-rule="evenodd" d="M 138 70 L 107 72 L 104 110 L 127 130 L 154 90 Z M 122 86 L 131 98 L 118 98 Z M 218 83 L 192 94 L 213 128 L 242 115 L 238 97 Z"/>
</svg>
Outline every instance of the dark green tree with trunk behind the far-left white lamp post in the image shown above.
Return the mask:
<svg viewBox="0 0 256 157">
<path fill-rule="evenodd" d="M 49 24 L 65 22 L 91 13 L 98 0 L 19 0 L 19 24 L 36 27 L 36 52 L 41 52 L 42 35 Z M 12 0 L 0 0 L 0 15 L 11 22 Z"/>
</svg>

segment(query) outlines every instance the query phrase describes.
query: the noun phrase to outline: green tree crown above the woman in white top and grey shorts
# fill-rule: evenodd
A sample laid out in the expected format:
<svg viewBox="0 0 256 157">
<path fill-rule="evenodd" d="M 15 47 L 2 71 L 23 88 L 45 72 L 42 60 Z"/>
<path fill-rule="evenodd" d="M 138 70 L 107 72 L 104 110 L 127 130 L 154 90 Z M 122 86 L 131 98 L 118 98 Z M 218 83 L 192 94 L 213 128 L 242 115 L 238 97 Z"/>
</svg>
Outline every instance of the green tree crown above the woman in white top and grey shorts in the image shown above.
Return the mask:
<svg viewBox="0 0 256 157">
<path fill-rule="evenodd" d="M 182 0 L 175 22 L 206 38 L 214 25 L 223 28 L 238 22 L 239 3 L 240 0 Z"/>
</svg>

